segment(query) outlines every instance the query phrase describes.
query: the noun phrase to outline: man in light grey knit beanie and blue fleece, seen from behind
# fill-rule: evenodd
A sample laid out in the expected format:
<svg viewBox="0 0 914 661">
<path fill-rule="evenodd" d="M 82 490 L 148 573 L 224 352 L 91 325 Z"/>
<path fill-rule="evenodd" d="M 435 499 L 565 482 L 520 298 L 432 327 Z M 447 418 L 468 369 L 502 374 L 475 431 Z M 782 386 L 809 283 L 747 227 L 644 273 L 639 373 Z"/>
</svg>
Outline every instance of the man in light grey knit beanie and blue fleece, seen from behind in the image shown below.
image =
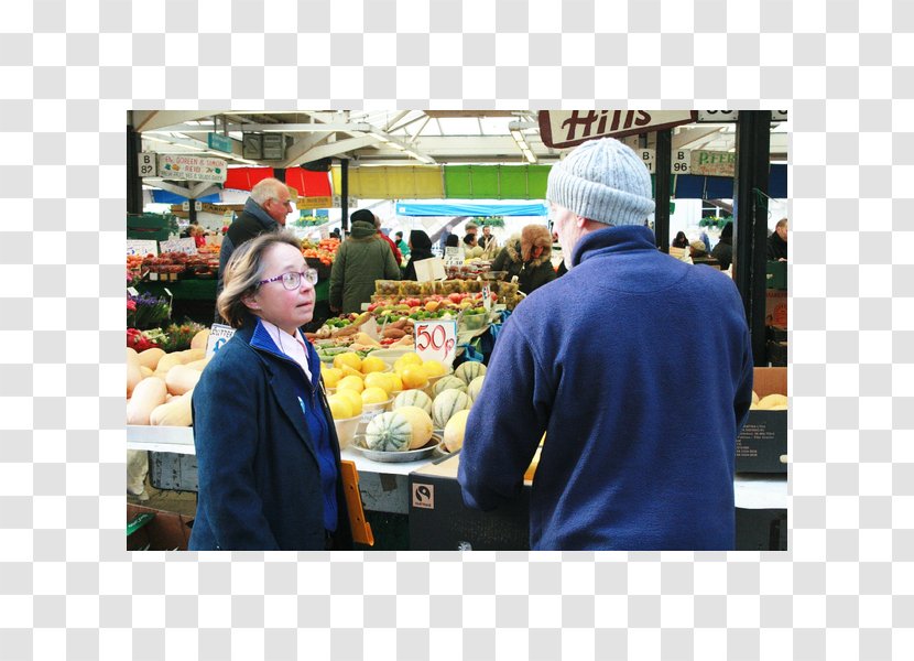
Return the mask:
<svg viewBox="0 0 914 661">
<path fill-rule="evenodd" d="M 651 177 L 618 140 L 553 165 L 546 197 L 568 272 L 503 324 L 467 421 L 464 502 L 516 497 L 542 438 L 532 550 L 733 549 L 753 370 L 733 281 L 656 249 Z"/>
</svg>

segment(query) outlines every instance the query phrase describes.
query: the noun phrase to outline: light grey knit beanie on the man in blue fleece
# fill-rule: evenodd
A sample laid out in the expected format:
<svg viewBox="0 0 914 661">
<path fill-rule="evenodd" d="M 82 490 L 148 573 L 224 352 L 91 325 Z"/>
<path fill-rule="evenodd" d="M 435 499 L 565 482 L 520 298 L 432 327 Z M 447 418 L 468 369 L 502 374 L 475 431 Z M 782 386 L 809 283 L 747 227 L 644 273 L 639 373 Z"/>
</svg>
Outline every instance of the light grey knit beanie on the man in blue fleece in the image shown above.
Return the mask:
<svg viewBox="0 0 914 661">
<path fill-rule="evenodd" d="M 553 165 L 546 198 L 607 225 L 644 225 L 654 210 L 648 167 L 614 138 L 585 142 Z"/>
</svg>

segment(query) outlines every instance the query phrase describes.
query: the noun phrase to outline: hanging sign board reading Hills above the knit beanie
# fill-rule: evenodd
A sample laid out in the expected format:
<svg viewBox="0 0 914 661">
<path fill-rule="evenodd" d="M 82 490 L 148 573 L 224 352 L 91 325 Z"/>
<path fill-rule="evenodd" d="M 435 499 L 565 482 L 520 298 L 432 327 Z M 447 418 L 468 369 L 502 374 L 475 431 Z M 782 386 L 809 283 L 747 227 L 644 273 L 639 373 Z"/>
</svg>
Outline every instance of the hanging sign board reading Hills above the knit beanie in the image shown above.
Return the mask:
<svg viewBox="0 0 914 661">
<path fill-rule="evenodd" d="M 695 110 L 541 110 L 540 137 L 546 147 L 576 147 L 595 138 L 631 136 L 695 121 Z"/>
</svg>

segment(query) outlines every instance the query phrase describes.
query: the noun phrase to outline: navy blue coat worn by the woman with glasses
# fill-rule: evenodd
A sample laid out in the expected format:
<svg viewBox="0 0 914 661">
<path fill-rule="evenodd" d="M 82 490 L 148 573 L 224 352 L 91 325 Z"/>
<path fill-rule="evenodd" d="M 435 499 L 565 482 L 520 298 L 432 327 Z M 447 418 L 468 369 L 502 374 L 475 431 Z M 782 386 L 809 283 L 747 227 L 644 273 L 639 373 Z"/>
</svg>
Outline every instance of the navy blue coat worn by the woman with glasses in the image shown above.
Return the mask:
<svg viewBox="0 0 914 661">
<path fill-rule="evenodd" d="M 258 332 L 255 333 L 255 329 Z M 325 549 L 324 494 L 315 427 L 328 427 L 339 475 L 339 441 L 308 346 L 313 380 L 251 319 L 210 360 L 193 394 L 199 501 L 191 550 Z M 301 393 L 301 394 L 300 394 Z M 304 395 L 304 397 L 302 397 Z M 315 413 L 309 429 L 303 409 Z M 323 424 L 319 418 L 326 421 Z M 326 475 L 326 470 L 325 470 Z M 351 549 L 336 479 L 335 549 Z"/>
</svg>

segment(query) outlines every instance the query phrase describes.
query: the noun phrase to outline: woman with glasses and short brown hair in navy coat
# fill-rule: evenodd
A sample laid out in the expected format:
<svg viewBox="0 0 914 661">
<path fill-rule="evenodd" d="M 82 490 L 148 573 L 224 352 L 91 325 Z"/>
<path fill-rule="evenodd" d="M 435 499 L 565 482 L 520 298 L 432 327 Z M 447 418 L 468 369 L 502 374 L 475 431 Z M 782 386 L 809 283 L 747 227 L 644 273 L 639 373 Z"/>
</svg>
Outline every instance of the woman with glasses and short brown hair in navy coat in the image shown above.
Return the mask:
<svg viewBox="0 0 914 661">
<path fill-rule="evenodd" d="M 351 549 L 339 442 L 301 330 L 316 282 L 286 232 L 246 242 L 228 263 L 217 307 L 237 330 L 193 393 L 191 550 Z"/>
</svg>

